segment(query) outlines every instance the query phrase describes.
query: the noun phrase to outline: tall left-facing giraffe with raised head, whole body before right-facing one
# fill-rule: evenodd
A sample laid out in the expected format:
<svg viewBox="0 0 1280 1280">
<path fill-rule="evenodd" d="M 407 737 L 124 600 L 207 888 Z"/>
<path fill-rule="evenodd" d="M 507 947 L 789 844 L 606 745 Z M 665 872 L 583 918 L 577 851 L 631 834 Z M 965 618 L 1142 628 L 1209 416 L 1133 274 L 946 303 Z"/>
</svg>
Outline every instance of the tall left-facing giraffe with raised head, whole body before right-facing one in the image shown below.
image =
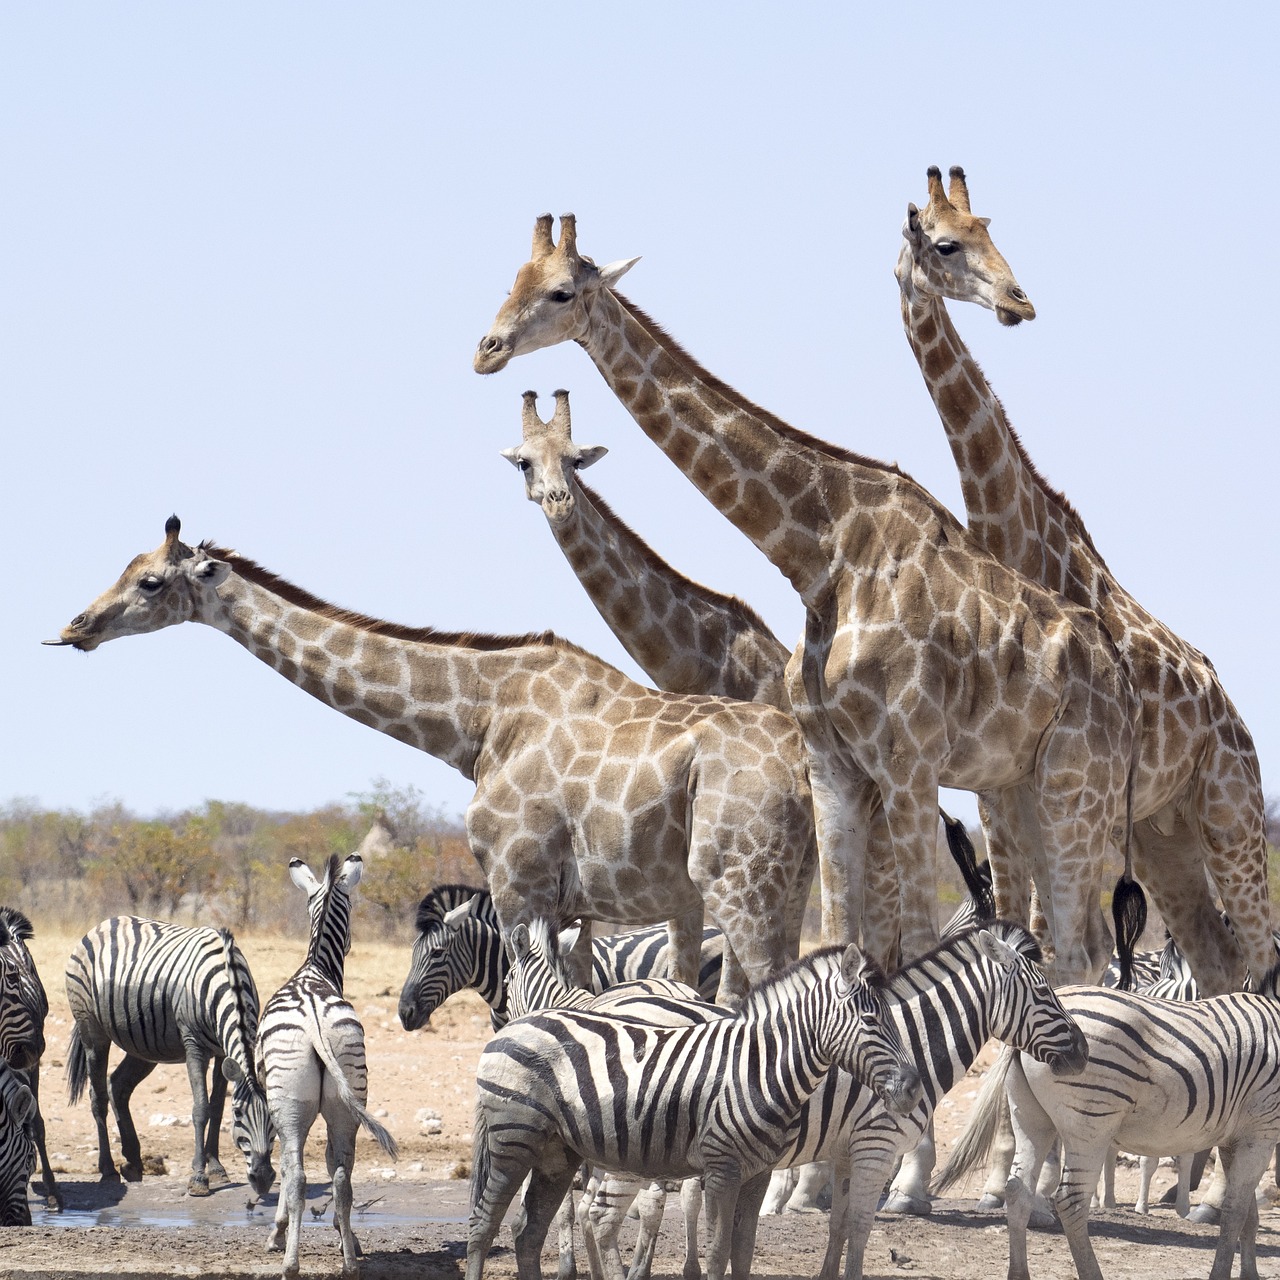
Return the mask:
<svg viewBox="0 0 1280 1280">
<path fill-rule="evenodd" d="M 827 938 L 861 915 L 867 831 L 883 806 L 904 955 L 934 918 L 940 782 L 1009 791 L 1043 833 L 1038 883 L 1059 982 L 1101 973 L 1085 920 L 1126 828 L 1133 691 L 1084 609 L 978 547 L 895 466 L 786 425 L 707 372 L 614 291 L 636 260 L 595 264 L 576 221 L 534 228 L 474 367 L 575 340 L 640 428 L 787 577 L 806 611 L 801 677 Z M 1125 836 L 1128 845 L 1128 837 Z M 1044 865 L 1038 865 L 1043 863 Z M 1125 895 L 1134 886 L 1125 881 Z"/>
</svg>

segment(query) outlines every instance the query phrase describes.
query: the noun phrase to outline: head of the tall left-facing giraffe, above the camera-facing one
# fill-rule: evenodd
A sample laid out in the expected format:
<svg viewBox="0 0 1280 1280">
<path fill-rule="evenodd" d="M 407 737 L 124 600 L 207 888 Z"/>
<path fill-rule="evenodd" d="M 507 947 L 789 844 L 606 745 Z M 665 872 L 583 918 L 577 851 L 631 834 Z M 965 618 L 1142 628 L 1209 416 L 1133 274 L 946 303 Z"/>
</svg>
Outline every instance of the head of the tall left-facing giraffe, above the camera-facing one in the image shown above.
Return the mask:
<svg viewBox="0 0 1280 1280">
<path fill-rule="evenodd" d="M 475 371 L 495 374 L 513 356 L 581 338 L 593 298 L 600 289 L 613 288 L 639 261 L 630 257 L 596 266 L 577 251 L 572 214 L 561 215 L 558 243 L 552 241 L 552 215 L 543 214 L 534 223 L 534 256 L 516 273 L 507 301 L 480 339 Z"/>
</svg>

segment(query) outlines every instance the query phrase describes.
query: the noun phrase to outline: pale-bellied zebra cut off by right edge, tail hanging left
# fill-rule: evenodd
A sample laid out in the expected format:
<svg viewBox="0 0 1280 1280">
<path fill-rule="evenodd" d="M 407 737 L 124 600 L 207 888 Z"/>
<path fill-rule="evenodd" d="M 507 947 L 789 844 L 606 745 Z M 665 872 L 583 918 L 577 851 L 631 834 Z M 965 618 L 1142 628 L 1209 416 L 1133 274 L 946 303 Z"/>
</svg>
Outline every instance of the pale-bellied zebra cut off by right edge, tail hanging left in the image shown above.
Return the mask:
<svg viewBox="0 0 1280 1280">
<path fill-rule="evenodd" d="M 1092 1048 L 1084 1071 L 1070 1080 L 1050 1079 L 1025 1055 L 1001 1055 L 938 1187 L 952 1185 L 984 1158 L 1000 1100 L 1007 1096 L 1015 1134 L 1005 1202 L 1011 1280 L 1029 1280 L 1029 1188 L 1055 1133 L 1065 1158 L 1053 1203 L 1082 1280 L 1101 1277 L 1089 1243 L 1089 1193 L 1112 1142 L 1139 1155 L 1216 1146 L 1226 1193 L 1210 1280 L 1229 1280 L 1236 1244 L 1243 1280 L 1257 1276 L 1253 1189 L 1280 1139 L 1277 980 L 1280 966 L 1262 979 L 1258 993 L 1188 1004 L 1064 987 L 1059 998 Z"/>
</svg>

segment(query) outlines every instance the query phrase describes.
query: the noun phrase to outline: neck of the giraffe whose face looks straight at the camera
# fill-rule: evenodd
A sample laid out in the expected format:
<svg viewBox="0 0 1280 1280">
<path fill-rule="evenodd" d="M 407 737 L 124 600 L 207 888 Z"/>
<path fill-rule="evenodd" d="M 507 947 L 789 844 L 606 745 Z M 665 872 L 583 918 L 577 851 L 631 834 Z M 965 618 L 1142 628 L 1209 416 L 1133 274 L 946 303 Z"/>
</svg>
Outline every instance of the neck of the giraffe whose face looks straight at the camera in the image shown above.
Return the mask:
<svg viewBox="0 0 1280 1280">
<path fill-rule="evenodd" d="M 790 652 L 741 600 L 673 570 L 586 485 L 552 532 L 591 603 L 659 689 L 786 707 Z"/>
</svg>

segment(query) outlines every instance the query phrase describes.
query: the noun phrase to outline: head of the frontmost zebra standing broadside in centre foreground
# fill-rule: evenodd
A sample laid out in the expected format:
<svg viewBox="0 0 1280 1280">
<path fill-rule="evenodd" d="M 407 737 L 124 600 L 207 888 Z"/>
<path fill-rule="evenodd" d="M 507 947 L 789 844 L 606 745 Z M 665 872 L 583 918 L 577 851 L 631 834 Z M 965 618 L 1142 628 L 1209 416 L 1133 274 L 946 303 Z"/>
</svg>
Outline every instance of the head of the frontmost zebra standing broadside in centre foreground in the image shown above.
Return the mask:
<svg viewBox="0 0 1280 1280">
<path fill-rule="evenodd" d="M 884 974 L 852 943 L 829 955 L 838 955 L 838 965 L 831 983 L 835 998 L 824 993 L 820 1019 L 819 1039 L 826 1042 L 827 1056 L 872 1089 L 890 1111 L 906 1115 L 924 1087 L 886 1009 Z"/>
</svg>

